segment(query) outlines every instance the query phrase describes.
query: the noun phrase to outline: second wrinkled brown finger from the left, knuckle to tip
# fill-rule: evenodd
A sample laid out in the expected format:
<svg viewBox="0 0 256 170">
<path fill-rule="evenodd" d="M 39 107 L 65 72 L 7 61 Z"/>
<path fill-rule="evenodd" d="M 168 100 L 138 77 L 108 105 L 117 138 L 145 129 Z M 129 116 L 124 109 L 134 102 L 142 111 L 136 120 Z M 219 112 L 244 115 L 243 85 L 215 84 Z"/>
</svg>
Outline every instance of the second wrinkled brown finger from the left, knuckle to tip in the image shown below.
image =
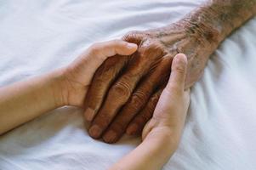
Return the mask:
<svg viewBox="0 0 256 170">
<path fill-rule="evenodd" d="M 149 48 L 148 45 L 139 47 L 138 53 L 128 65 L 127 70 L 124 71 L 122 77 L 119 77 L 110 89 L 104 105 L 100 108 L 89 129 L 91 137 L 100 138 L 122 105 L 128 101 L 141 77 L 145 76 L 151 65 L 154 65 L 158 59 L 162 58 L 162 50 L 159 47 L 150 46 Z"/>
</svg>

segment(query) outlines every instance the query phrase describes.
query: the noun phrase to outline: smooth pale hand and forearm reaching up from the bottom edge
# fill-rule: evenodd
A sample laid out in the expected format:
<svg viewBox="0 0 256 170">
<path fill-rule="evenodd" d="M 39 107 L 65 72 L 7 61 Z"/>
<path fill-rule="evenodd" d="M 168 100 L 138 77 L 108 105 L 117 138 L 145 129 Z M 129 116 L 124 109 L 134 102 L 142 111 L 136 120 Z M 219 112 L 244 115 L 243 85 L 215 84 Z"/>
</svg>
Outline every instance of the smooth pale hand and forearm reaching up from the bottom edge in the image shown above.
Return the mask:
<svg viewBox="0 0 256 170">
<path fill-rule="evenodd" d="M 153 117 L 143 130 L 143 142 L 111 169 L 160 169 L 179 145 L 190 103 L 190 92 L 185 88 L 186 57 L 174 57 L 168 85 L 159 92 L 161 97 Z"/>
</svg>

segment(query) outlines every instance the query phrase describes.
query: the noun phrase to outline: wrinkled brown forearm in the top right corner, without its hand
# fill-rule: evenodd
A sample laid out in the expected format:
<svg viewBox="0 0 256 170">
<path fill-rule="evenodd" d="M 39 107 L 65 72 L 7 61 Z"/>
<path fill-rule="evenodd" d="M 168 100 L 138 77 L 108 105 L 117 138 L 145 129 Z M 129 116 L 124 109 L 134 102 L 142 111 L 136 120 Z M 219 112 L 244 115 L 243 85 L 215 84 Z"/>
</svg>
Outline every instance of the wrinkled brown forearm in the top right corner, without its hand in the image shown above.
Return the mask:
<svg viewBox="0 0 256 170">
<path fill-rule="evenodd" d="M 193 33 L 219 45 L 225 37 L 256 14 L 256 0 L 210 0 L 182 21 L 189 23 Z"/>
</svg>

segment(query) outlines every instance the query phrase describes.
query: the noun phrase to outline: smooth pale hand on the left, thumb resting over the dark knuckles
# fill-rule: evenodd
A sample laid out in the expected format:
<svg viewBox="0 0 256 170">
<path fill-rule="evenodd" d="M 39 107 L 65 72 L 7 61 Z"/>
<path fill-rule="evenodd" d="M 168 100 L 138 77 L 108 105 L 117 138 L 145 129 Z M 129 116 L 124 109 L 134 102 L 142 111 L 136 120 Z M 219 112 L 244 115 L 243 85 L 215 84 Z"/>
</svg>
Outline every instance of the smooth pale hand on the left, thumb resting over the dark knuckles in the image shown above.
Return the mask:
<svg viewBox="0 0 256 170">
<path fill-rule="evenodd" d="M 114 57 L 127 57 L 121 55 L 133 54 L 136 49 L 136 44 L 122 40 L 94 43 L 71 65 L 64 68 L 64 78 L 60 85 L 62 94 L 60 102 L 63 105 L 82 106 L 94 72 L 105 59 L 114 55 Z"/>
</svg>

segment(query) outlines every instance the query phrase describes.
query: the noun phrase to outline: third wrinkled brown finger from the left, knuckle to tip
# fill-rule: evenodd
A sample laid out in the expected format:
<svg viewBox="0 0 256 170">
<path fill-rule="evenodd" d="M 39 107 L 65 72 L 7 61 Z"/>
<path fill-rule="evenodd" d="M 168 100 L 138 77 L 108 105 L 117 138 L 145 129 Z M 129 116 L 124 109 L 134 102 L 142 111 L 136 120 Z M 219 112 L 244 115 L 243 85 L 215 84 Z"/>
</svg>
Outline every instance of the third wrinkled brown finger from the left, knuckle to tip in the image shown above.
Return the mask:
<svg viewBox="0 0 256 170">
<path fill-rule="evenodd" d="M 107 128 L 103 135 L 106 143 L 117 142 L 122 137 L 128 127 L 128 123 L 134 116 L 144 107 L 151 97 L 151 94 L 156 90 L 159 84 L 167 81 L 168 72 L 170 72 L 171 58 L 165 56 L 162 62 L 157 65 L 150 75 L 145 77 L 145 80 L 139 84 L 134 94 L 128 99 L 128 102 L 118 112 L 110 127 Z"/>
</svg>

